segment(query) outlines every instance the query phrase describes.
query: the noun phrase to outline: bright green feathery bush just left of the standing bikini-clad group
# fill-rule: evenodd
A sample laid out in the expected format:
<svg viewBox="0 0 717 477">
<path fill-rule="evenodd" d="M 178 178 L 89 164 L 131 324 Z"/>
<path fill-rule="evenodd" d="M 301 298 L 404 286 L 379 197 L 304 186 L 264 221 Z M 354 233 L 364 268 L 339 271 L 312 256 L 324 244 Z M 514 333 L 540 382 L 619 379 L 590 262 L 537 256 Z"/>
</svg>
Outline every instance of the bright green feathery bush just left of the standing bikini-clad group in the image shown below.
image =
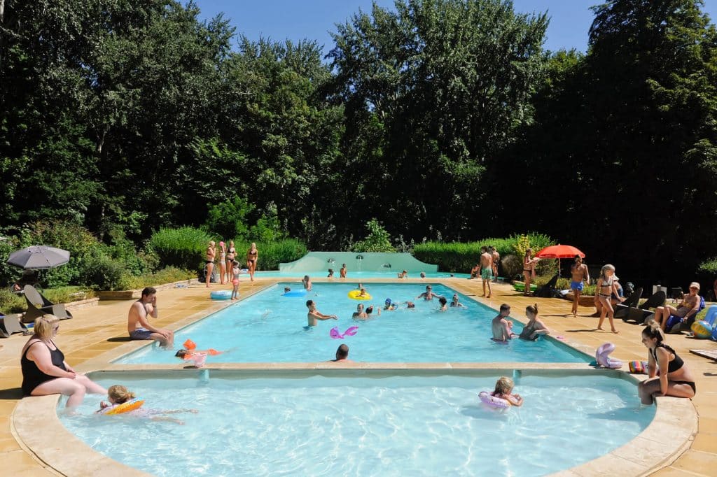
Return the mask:
<svg viewBox="0 0 717 477">
<path fill-rule="evenodd" d="M 212 236 L 199 228 L 161 228 L 152 234 L 149 246 L 164 266 L 201 269 L 204 252 Z"/>
</svg>

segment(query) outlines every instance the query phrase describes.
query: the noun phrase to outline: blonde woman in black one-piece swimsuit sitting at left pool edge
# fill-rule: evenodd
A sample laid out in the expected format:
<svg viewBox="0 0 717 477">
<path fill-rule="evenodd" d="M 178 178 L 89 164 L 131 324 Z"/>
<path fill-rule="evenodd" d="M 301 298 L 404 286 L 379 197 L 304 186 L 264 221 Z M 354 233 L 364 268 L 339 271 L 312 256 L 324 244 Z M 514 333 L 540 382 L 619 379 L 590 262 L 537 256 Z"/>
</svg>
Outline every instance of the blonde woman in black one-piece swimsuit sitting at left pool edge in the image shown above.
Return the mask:
<svg viewBox="0 0 717 477">
<path fill-rule="evenodd" d="M 80 375 L 65 362 L 52 338 L 60 328 L 60 318 L 46 314 L 35 320 L 35 334 L 22 348 L 22 392 L 24 395 L 45 396 L 62 394 L 70 396 L 67 408 L 77 408 L 85 397 L 85 392 L 107 394 L 107 390 L 92 382 L 89 377 Z"/>
</svg>

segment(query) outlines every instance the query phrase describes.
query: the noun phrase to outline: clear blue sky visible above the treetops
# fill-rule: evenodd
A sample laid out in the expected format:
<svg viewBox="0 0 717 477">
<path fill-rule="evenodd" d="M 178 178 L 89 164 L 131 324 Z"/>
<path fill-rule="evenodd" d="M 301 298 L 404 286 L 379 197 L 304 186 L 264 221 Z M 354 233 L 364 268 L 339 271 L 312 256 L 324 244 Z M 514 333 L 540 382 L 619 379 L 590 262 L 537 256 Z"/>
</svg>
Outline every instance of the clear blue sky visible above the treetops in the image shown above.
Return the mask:
<svg viewBox="0 0 717 477">
<path fill-rule="evenodd" d="M 237 33 L 252 40 L 260 37 L 275 41 L 290 39 L 316 40 L 324 52 L 333 47 L 329 32 L 359 9 L 371 11 L 371 0 L 195 0 L 201 17 L 211 19 L 220 12 L 231 19 Z M 186 4 L 186 1 L 184 1 Z M 380 6 L 393 8 L 394 0 L 376 0 Z M 545 48 L 587 49 L 587 32 L 593 15 L 589 7 L 601 0 L 513 0 L 516 11 L 541 13 L 551 17 Z M 705 11 L 712 22 L 717 19 L 717 0 L 706 0 Z"/>
</svg>

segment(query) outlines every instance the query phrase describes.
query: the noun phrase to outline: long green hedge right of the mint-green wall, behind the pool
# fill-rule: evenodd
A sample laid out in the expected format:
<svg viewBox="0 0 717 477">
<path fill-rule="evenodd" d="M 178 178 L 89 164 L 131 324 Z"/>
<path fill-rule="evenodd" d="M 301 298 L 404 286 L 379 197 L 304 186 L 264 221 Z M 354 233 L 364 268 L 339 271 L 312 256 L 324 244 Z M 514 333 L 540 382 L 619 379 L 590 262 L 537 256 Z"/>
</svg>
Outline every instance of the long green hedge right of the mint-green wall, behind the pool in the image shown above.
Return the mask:
<svg viewBox="0 0 717 477">
<path fill-rule="evenodd" d="M 533 251 L 553 245 L 556 242 L 542 233 L 528 233 L 528 241 Z M 469 273 L 470 269 L 480 261 L 480 247 L 494 246 L 501 258 L 516 255 L 519 235 L 508 238 L 483 238 L 475 242 L 437 242 L 429 241 L 414 246 L 413 254 L 427 264 L 438 264 L 440 271 Z M 509 277 L 513 278 L 513 277 Z"/>
</svg>

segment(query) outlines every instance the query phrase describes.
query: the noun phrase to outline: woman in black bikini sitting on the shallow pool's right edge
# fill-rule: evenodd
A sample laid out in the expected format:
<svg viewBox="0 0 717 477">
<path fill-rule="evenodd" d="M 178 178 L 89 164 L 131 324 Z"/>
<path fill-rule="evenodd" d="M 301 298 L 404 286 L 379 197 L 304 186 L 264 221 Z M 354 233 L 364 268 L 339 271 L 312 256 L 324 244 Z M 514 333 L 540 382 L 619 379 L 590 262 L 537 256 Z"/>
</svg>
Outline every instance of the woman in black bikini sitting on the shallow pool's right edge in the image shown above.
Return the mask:
<svg viewBox="0 0 717 477">
<path fill-rule="evenodd" d="M 660 325 L 650 320 L 642 330 L 642 344 L 647 347 L 649 378 L 637 386 L 642 404 L 652 404 L 655 397 L 694 397 L 695 379 L 675 350 L 663 343 L 665 334 Z M 660 370 L 660 377 L 657 370 Z"/>
</svg>

